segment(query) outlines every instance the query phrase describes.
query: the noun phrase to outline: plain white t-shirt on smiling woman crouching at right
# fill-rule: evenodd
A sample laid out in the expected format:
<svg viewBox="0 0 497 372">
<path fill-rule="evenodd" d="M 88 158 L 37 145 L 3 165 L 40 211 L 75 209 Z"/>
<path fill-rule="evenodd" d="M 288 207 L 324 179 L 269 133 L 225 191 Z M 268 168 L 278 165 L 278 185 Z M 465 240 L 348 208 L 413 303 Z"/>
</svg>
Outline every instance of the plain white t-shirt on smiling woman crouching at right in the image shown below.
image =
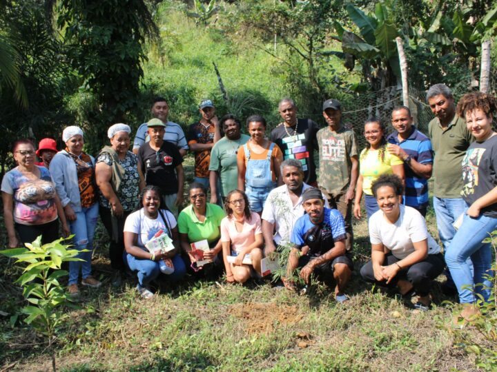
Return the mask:
<svg viewBox="0 0 497 372">
<path fill-rule="evenodd" d="M 369 218 L 369 240 L 371 244 L 382 244 L 393 256 L 402 260 L 414 251 L 413 242 L 427 239 L 428 254 L 440 253 L 440 247 L 429 234 L 425 218 L 420 212 L 399 205 L 400 215 L 396 223 L 389 223 L 382 210 Z"/>
</svg>

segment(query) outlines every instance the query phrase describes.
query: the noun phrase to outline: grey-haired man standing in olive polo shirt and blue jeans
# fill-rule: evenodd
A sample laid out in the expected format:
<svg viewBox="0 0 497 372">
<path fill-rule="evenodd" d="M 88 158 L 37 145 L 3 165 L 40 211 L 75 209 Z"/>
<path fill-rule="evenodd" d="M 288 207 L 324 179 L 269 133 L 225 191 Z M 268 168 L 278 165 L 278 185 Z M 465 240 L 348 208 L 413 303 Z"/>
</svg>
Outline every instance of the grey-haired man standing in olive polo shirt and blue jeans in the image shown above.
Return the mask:
<svg viewBox="0 0 497 372">
<path fill-rule="evenodd" d="M 428 127 L 428 136 L 435 152 L 433 209 L 438 236 L 447 251 L 456 234 L 452 224 L 466 209 L 460 194 L 463 185 L 461 163 L 473 137 L 467 130 L 465 119 L 456 115 L 454 97 L 447 85 L 435 84 L 430 87 L 427 101 L 431 112 L 435 114 Z M 445 288 L 449 290 L 451 287 L 454 287 L 454 283 L 448 277 Z"/>
</svg>

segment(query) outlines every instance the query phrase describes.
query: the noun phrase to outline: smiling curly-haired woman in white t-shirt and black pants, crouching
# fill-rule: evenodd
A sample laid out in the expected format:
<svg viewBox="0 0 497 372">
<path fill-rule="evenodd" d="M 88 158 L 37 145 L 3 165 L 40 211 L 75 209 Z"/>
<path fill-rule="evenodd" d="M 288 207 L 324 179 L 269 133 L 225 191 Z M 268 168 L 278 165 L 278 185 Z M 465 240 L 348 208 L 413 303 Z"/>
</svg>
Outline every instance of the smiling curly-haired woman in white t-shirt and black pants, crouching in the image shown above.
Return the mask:
<svg viewBox="0 0 497 372">
<path fill-rule="evenodd" d="M 425 218 L 401 204 L 402 189 L 402 180 L 394 174 L 384 174 L 373 183 L 380 210 L 369 218 L 371 261 L 360 273 L 367 282 L 398 287 L 405 297 L 416 291 L 414 307 L 426 311 L 431 307 L 431 281 L 442 273 L 445 262 Z"/>
</svg>

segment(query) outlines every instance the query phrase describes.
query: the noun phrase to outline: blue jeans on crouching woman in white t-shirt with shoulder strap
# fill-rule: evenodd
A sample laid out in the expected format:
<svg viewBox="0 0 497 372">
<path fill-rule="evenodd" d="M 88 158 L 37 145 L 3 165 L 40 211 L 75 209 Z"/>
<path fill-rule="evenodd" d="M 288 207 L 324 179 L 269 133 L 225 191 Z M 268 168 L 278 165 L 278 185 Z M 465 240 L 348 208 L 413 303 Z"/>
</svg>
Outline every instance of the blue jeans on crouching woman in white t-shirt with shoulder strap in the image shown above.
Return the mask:
<svg viewBox="0 0 497 372">
<path fill-rule="evenodd" d="M 126 252 L 125 252 L 126 254 Z M 173 258 L 175 271 L 170 275 L 162 275 L 162 278 L 167 278 L 169 282 L 178 282 L 182 280 L 186 274 L 186 266 L 180 254 Z M 159 262 L 147 260 L 146 258 L 136 258 L 132 254 L 126 254 L 126 261 L 131 271 L 138 271 L 138 284 L 140 287 L 145 287 L 151 280 L 154 280 L 161 273 Z"/>
</svg>

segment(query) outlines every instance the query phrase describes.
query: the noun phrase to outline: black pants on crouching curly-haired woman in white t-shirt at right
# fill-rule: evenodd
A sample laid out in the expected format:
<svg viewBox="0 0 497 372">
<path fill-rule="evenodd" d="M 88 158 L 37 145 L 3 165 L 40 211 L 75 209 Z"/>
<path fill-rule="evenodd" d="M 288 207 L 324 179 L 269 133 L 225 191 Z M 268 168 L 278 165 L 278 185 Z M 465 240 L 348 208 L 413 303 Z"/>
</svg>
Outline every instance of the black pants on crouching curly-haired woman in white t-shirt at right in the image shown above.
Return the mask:
<svg viewBox="0 0 497 372">
<path fill-rule="evenodd" d="M 387 254 L 382 265 L 393 265 L 398 261 L 400 260 L 392 254 Z M 371 261 L 367 262 L 361 268 L 360 273 L 362 278 L 367 282 L 377 283 L 383 287 L 396 287 L 399 279 L 408 280 L 412 283 L 419 296 L 428 296 L 431 289 L 431 280 L 439 276 L 444 267 L 445 261 L 442 254 L 429 254 L 425 260 L 400 270 L 388 285 L 386 280 L 382 280 L 381 282 L 376 280 L 373 271 L 373 262 Z"/>
</svg>

